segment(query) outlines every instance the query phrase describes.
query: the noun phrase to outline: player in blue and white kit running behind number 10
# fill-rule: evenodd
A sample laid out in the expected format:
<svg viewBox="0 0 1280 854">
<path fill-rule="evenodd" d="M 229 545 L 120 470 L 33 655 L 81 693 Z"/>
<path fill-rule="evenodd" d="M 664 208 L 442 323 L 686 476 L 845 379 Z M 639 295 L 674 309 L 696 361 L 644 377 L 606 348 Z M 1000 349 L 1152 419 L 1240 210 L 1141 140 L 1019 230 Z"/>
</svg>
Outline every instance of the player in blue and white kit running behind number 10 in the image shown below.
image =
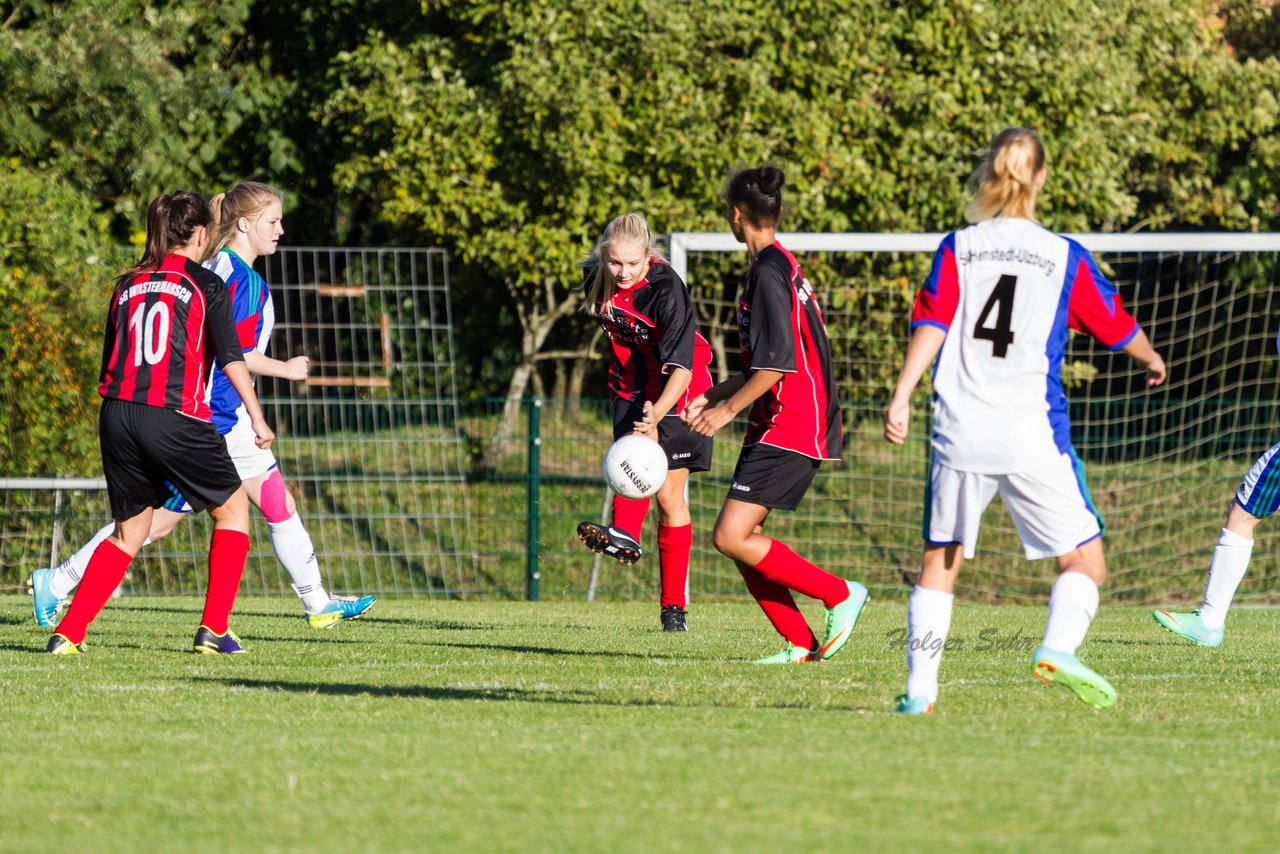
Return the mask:
<svg viewBox="0 0 1280 854">
<path fill-rule="evenodd" d="M 246 182 L 215 196 L 211 204 L 215 225 L 210 242 L 216 251 L 205 266 L 221 277 L 230 292 L 236 333 L 250 373 L 255 376 L 306 379 L 306 356 L 279 361 L 266 355 L 275 310 L 266 282 L 253 270 L 253 261 L 259 256 L 274 254 L 284 233 L 280 228 L 279 191 L 266 184 Z M 271 547 L 302 599 L 308 625 L 325 629 L 364 615 L 376 600 L 375 597 L 330 597 L 325 590 L 311 535 L 302 525 L 275 455 L 257 447 L 244 405 L 221 370 L 212 371 L 209 405 L 214 426 L 227 442 L 227 451 L 250 501 L 266 519 Z M 188 511 L 186 501 L 174 490 L 174 498 L 155 511 L 147 542 L 168 535 Z M 36 622 L 52 624 L 59 602 L 79 584 L 88 557 L 111 530 L 111 525 L 100 530 L 88 544 L 56 568 L 32 572 Z"/>
</svg>

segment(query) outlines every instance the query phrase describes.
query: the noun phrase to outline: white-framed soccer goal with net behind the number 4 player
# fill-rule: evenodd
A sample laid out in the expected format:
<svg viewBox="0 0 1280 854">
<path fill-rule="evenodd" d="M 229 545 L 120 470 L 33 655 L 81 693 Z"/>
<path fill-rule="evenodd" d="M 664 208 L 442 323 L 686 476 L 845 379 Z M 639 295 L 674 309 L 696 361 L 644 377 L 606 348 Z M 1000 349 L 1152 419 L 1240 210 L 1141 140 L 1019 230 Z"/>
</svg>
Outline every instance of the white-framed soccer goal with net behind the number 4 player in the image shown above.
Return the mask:
<svg viewBox="0 0 1280 854">
<path fill-rule="evenodd" d="M 881 419 L 909 339 L 915 289 L 942 237 L 778 236 L 822 300 L 847 444 L 844 462 L 822 469 L 800 511 L 769 525 L 815 562 L 881 588 L 900 588 L 919 561 L 928 389 L 916 394 L 905 448 L 883 440 Z M 1170 369 L 1165 385 L 1148 391 L 1128 356 L 1074 334 L 1064 359 L 1073 439 L 1107 522 L 1107 593 L 1198 595 L 1233 490 L 1249 463 L 1280 440 L 1280 234 L 1073 237 L 1096 255 Z M 676 233 L 669 252 L 716 350 L 713 371 L 724 376 L 737 369 L 735 297 L 744 247 L 727 233 Z M 707 525 L 723 501 L 736 438 L 717 444 L 716 471 L 691 479 L 694 516 Z M 696 586 L 741 589 L 708 538 L 696 538 L 695 548 Z M 961 579 L 966 592 L 1042 597 L 1052 579 L 1052 562 L 1023 560 L 1007 517 L 992 507 L 978 560 Z M 1280 576 L 1266 563 L 1257 563 L 1240 589 L 1256 599 L 1276 593 Z"/>
</svg>

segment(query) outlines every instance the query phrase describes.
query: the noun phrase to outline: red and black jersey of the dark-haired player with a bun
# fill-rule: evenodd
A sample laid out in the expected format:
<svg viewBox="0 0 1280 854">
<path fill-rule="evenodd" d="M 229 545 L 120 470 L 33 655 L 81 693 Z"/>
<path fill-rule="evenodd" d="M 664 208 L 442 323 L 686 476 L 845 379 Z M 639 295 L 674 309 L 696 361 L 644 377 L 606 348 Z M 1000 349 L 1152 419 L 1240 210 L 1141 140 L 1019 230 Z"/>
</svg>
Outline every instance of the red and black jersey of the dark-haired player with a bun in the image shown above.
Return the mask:
<svg viewBox="0 0 1280 854">
<path fill-rule="evenodd" d="M 827 325 L 795 256 L 778 243 L 751 264 L 737 305 L 737 330 L 748 376 L 764 369 L 782 371 L 782 379 L 751 406 L 742 444 L 838 460 L 844 429 Z"/>
</svg>

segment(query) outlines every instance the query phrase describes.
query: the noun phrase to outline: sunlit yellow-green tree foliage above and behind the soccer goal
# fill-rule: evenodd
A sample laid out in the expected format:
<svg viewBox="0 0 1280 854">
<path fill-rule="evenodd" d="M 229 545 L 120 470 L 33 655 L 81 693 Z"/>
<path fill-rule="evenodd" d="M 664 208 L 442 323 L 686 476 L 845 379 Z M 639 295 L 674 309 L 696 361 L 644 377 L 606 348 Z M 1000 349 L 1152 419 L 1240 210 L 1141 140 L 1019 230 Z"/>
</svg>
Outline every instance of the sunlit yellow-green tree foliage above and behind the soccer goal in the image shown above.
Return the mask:
<svg viewBox="0 0 1280 854">
<path fill-rule="evenodd" d="M 954 228 L 980 149 L 1009 124 L 1048 143 L 1053 228 L 1280 223 L 1280 61 L 1242 60 L 1220 19 L 1183 3 L 430 8 L 339 52 L 316 118 L 353 152 L 340 189 L 517 307 L 572 284 L 620 213 L 723 228 L 735 165 L 786 168 L 788 229 Z M 832 298 L 859 298 L 810 266 Z M 900 332 L 896 314 L 867 319 L 858 341 Z"/>
</svg>

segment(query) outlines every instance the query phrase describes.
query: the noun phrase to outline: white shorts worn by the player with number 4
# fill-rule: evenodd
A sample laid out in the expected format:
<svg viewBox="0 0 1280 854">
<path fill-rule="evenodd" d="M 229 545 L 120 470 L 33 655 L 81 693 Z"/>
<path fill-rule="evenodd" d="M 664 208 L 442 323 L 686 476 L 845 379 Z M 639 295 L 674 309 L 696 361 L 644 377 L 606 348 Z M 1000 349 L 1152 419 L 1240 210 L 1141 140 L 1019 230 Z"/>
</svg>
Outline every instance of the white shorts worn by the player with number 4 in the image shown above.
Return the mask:
<svg viewBox="0 0 1280 854">
<path fill-rule="evenodd" d="M 1084 465 L 1074 453 L 1012 475 L 956 471 L 934 460 L 924 495 L 925 543 L 961 545 L 972 558 L 982 513 L 996 493 L 1029 561 L 1066 554 L 1105 530 L 1084 483 Z"/>
</svg>

